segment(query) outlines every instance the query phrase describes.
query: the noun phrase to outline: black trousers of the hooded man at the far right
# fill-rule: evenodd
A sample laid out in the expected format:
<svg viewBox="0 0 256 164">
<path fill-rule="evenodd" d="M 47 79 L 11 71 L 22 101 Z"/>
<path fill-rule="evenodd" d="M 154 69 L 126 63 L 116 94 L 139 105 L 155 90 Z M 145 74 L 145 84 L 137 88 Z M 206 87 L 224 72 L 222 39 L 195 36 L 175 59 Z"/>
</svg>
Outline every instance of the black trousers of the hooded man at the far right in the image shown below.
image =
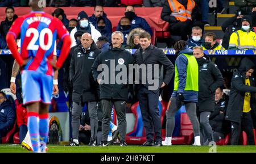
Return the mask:
<svg viewBox="0 0 256 164">
<path fill-rule="evenodd" d="M 241 123 L 231 122 L 232 125 L 232 137 L 231 145 L 238 145 L 241 130 L 247 134 L 247 145 L 255 145 L 253 134 L 253 119 L 251 119 L 251 113 L 243 113 Z"/>
</svg>

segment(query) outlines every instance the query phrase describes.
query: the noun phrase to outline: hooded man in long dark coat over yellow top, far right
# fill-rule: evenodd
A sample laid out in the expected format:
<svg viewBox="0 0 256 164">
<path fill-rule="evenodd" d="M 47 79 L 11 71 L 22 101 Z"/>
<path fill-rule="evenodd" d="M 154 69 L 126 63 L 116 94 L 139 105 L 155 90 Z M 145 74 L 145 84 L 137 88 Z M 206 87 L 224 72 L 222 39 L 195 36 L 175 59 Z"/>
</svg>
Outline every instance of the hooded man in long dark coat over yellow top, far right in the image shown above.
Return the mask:
<svg viewBox="0 0 256 164">
<path fill-rule="evenodd" d="M 247 134 L 249 145 L 254 145 L 253 119 L 255 119 L 255 79 L 254 63 L 247 57 L 243 58 L 237 72 L 234 72 L 231 83 L 226 120 L 231 121 L 231 145 L 238 145 L 241 130 Z"/>
</svg>

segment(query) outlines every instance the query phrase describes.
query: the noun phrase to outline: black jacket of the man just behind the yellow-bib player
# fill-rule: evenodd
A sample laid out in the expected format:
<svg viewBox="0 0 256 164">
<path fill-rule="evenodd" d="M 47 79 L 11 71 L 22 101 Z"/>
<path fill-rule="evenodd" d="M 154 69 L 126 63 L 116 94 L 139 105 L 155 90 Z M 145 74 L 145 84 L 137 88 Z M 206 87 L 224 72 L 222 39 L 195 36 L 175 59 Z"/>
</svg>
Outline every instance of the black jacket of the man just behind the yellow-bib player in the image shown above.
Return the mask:
<svg viewBox="0 0 256 164">
<path fill-rule="evenodd" d="M 199 112 L 213 112 L 215 90 L 223 85 L 223 77 L 217 66 L 207 57 L 196 60 L 199 66 Z"/>
</svg>

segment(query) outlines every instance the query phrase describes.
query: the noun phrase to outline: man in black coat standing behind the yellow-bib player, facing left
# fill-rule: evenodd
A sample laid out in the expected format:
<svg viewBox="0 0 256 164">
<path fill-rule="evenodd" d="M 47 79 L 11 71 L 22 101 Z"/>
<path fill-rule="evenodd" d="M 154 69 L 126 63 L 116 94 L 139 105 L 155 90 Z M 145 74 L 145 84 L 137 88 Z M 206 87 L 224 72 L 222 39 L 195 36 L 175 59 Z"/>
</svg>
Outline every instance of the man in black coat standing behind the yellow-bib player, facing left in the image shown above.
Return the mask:
<svg viewBox="0 0 256 164">
<path fill-rule="evenodd" d="M 201 145 L 208 145 L 213 141 L 212 127 L 209 124 L 210 113 L 214 111 L 215 90 L 223 85 L 223 77 L 217 66 L 204 56 L 202 47 L 193 48 L 193 56 L 195 56 L 199 66 L 199 95 L 198 95 L 198 111 L 200 113 L 200 125 L 205 136 L 201 137 Z M 201 133 L 202 134 L 202 133 Z M 207 138 L 207 142 L 204 142 Z"/>
</svg>

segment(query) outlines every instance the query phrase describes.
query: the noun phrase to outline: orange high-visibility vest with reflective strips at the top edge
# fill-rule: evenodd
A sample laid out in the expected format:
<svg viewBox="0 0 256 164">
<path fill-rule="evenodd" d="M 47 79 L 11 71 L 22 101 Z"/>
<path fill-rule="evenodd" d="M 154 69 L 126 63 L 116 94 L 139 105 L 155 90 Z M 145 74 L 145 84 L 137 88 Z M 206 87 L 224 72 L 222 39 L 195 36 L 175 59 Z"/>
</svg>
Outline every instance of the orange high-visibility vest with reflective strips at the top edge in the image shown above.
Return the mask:
<svg viewBox="0 0 256 164">
<path fill-rule="evenodd" d="M 196 5 L 195 1 L 188 0 L 187 9 L 177 0 L 168 0 L 168 3 L 172 11 L 171 16 L 175 16 L 180 22 L 185 22 L 187 19 L 192 20 L 191 14 Z"/>
</svg>

